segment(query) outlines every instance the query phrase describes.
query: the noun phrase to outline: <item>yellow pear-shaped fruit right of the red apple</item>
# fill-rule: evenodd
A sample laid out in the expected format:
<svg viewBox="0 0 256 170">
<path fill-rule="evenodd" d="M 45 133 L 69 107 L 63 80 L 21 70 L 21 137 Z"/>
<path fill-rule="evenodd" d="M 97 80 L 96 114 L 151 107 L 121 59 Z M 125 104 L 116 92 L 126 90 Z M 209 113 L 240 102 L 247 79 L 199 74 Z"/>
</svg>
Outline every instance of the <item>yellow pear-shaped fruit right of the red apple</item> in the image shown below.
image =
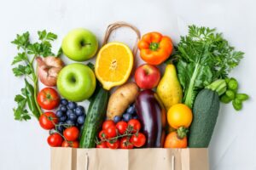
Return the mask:
<svg viewBox="0 0 256 170">
<path fill-rule="evenodd" d="M 166 65 L 165 74 L 156 88 L 156 93 L 165 105 L 166 111 L 168 111 L 172 105 L 182 102 L 183 91 L 178 82 L 177 72 L 174 65 Z"/>
</svg>

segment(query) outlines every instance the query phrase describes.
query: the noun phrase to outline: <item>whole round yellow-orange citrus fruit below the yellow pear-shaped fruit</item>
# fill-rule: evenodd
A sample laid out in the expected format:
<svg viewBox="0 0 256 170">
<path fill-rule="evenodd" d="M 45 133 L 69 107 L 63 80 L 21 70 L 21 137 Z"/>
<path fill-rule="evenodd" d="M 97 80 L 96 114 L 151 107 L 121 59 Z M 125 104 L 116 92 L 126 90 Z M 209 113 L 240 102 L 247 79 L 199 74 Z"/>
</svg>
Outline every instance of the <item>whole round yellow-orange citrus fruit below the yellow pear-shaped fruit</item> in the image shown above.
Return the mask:
<svg viewBox="0 0 256 170">
<path fill-rule="evenodd" d="M 167 121 L 173 128 L 186 127 L 188 128 L 192 122 L 192 111 L 184 104 L 172 105 L 167 113 Z"/>
</svg>

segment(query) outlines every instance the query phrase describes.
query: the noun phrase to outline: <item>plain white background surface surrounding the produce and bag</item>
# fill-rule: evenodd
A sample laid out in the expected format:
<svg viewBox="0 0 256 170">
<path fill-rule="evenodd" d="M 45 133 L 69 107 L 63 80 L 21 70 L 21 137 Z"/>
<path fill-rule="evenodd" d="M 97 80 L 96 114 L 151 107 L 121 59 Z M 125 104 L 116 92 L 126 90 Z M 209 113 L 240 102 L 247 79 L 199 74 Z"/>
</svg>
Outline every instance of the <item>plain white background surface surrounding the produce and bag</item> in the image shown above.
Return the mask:
<svg viewBox="0 0 256 170">
<path fill-rule="evenodd" d="M 160 31 L 174 42 L 188 24 L 217 27 L 246 53 L 232 75 L 251 99 L 239 113 L 231 105 L 222 105 L 210 144 L 210 165 L 212 170 L 256 169 L 255 5 L 253 0 L 0 0 L 0 169 L 49 169 L 48 132 L 36 120 L 14 121 L 14 97 L 24 83 L 13 76 L 10 66 L 17 53 L 10 43 L 15 34 L 31 31 L 36 37 L 38 30 L 53 31 L 59 35 L 57 49 L 73 28 L 88 28 L 102 40 L 108 24 L 118 20 L 130 22 L 142 33 Z M 123 32 L 125 36 L 118 31 L 116 39 L 132 43 L 135 35 Z"/>
</svg>

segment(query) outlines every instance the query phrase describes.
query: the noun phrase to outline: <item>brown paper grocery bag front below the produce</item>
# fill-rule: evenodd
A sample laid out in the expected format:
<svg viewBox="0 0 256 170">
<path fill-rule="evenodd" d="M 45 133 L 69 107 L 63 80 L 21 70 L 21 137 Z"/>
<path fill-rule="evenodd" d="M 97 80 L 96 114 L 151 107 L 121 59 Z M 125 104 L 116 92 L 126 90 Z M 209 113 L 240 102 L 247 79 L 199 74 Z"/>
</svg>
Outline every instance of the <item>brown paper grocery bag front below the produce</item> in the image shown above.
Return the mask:
<svg viewBox="0 0 256 170">
<path fill-rule="evenodd" d="M 51 170 L 207 170 L 208 151 L 201 149 L 52 148 Z"/>
</svg>

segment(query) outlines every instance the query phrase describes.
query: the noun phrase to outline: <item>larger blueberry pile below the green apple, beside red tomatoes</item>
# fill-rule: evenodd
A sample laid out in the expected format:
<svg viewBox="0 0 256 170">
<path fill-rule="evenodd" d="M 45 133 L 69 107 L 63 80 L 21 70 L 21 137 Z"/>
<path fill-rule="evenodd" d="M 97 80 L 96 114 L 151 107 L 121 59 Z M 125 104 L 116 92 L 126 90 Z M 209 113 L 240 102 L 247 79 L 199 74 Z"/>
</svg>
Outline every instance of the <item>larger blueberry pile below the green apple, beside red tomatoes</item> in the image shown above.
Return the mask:
<svg viewBox="0 0 256 170">
<path fill-rule="evenodd" d="M 67 99 L 61 99 L 61 105 L 55 115 L 59 118 L 59 123 L 56 127 L 60 133 L 63 133 L 67 126 L 76 126 L 81 129 L 86 116 L 82 105 L 77 105 L 77 103 Z"/>
</svg>

